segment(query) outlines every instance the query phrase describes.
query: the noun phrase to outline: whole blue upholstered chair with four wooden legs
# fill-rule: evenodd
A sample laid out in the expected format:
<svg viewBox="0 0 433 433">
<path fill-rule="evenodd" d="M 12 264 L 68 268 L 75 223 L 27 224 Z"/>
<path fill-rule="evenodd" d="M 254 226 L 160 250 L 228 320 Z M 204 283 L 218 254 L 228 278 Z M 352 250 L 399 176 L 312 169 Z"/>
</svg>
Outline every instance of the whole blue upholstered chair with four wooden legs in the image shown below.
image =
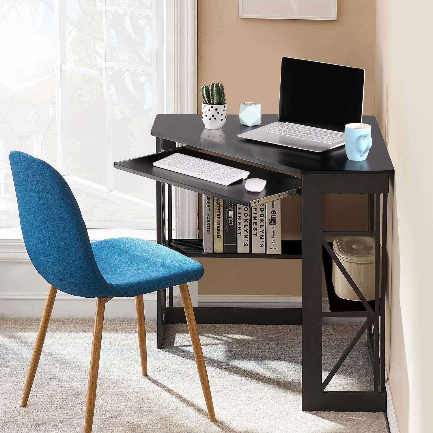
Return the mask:
<svg viewBox="0 0 433 433">
<path fill-rule="evenodd" d="M 42 314 L 21 406 L 29 399 L 57 290 L 96 297 L 84 432 L 92 431 L 105 304 L 113 297 L 136 299 L 142 375 L 147 376 L 143 294 L 179 285 L 209 418 L 215 421 L 206 365 L 188 281 L 203 276 L 200 263 L 178 252 L 134 238 L 90 242 L 77 201 L 58 171 L 23 152 L 10 153 L 19 219 L 30 260 L 51 287 Z"/>
</svg>

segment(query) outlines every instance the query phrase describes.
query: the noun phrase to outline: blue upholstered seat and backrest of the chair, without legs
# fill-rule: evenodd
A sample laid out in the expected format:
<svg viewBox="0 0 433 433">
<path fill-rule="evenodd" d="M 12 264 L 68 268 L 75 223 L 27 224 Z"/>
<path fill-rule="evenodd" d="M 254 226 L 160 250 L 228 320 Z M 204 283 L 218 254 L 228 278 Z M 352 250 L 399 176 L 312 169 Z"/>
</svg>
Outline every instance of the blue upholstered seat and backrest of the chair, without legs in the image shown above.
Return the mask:
<svg viewBox="0 0 433 433">
<path fill-rule="evenodd" d="M 27 252 L 58 290 L 81 297 L 132 297 L 202 277 L 200 263 L 154 242 L 90 242 L 61 174 L 23 152 L 13 151 L 9 159 Z"/>
</svg>

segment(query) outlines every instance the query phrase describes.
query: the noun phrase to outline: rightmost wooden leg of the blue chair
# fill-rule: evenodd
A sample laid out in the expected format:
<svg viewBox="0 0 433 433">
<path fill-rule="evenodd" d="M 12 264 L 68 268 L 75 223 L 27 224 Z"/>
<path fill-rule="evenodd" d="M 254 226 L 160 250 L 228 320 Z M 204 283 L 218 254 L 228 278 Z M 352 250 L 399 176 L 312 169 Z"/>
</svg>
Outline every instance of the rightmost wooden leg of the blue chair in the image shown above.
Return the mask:
<svg viewBox="0 0 433 433">
<path fill-rule="evenodd" d="M 179 284 L 182 303 L 184 304 L 185 316 L 187 318 L 188 330 L 191 336 L 191 343 L 194 349 L 195 362 L 197 364 L 198 375 L 200 376 L 201 388 L 203 389 L 204 400 L 206 401 L 209 419 L 214 423 L 215 412 L 213 410 L 212 395 L 210 394 L 209 379 L 207 377 L 206 365 L 204 364 L 203 351 L 201 350 L 200 337 L 197 332 L 194 310 L 191 304 L 191 297 L 187 284 Z"/>
</svg>

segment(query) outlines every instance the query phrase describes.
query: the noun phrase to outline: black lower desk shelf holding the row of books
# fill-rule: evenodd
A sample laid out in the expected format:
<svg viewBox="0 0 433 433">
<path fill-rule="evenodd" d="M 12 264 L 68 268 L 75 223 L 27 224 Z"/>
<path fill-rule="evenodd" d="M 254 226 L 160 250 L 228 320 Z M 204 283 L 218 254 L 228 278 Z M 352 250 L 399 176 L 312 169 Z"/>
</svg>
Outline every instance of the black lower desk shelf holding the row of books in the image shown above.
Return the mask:
<svg viewBox="0 0 433 433">
<path fill-rule="evenodd" d="M 205 253 L 201 239 L 170 239 L 165 246 L 188 257 L 226 258 L 226 259 L 302 259 L 301 241 L 282 241 L 282 254 L 241 254 Z"/>
</svg>

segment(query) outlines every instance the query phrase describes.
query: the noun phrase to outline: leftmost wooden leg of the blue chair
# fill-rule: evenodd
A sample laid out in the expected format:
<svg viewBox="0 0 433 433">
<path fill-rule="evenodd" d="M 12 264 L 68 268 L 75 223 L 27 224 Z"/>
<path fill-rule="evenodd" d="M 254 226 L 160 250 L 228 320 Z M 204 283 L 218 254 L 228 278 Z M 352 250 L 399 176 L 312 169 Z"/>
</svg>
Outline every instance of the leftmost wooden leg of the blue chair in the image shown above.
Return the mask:
<svg viewBox="0 0 433 433">
<path fill-rule="evenodd" d="M 51 312 L 55 301 L 57 289 L 50 286 L 48 290 L 47 300 L 45 301 L 44 312 L 42 313 L 41 323 L 39 324 L 38 335 L 36 336 L 35 347 L 33 348 L 32 359 L 30 360 L 29 372 L 27 373 L 26 385 L 24 386 L 23 398 L 21 400 L 21 407 L 27 405 L 29 400 L 30 391 L 32 389 L 33 380 L 35 379 L 36 370 L 38 368 L 39 359 L 41 357 L 42 346 L 44 345 L 45 335 L 48 329 Z"/>
</svg>

